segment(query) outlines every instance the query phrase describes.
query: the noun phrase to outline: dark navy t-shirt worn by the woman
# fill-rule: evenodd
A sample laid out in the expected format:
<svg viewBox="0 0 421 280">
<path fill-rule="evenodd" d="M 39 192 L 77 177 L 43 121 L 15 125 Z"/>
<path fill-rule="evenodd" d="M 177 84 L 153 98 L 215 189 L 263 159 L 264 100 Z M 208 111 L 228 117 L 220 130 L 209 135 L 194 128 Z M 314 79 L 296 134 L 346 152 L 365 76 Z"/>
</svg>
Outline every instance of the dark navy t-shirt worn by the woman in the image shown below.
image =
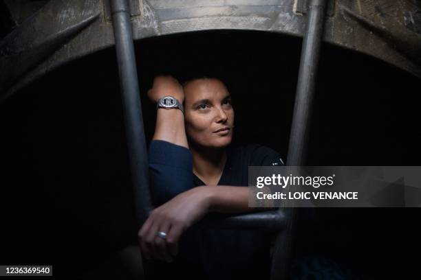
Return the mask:
<svg viewBox="0 0 421 280">
<path fill-rule="evenodd" d="M 278 152 L 262 145 L 228 147 L 226 152 L 226 165 L 218 185 L 245 187 L 248 186 L 248 166 L 283 165 Z M 192 187 L 205 185 L 193 174 L 190 150 L 166 141 L 151 142 L 149 176 L 155 206 Z M 189 229 L 181 237 L 179 253 L 173 263 L 158 261 L 145 272 L 155 279 L 170 276 L 268 279 L 271 239 L 271 233 L 258 230 Z"/>
</svg>

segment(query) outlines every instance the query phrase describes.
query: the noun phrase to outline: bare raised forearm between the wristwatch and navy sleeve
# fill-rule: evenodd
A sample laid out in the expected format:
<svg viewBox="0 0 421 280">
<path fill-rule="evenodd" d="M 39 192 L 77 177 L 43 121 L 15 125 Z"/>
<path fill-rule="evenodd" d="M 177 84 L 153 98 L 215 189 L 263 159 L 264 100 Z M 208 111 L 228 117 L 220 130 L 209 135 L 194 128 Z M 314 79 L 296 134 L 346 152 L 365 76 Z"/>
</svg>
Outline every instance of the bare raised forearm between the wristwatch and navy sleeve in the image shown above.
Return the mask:
<svg viewBox="0 0 421 280">
<path fill-rule="evenodd" d="M 162 140 L 188 148 L 184 115 L 181 110 L 159 108 L 153 140 Z"/>
</svg>

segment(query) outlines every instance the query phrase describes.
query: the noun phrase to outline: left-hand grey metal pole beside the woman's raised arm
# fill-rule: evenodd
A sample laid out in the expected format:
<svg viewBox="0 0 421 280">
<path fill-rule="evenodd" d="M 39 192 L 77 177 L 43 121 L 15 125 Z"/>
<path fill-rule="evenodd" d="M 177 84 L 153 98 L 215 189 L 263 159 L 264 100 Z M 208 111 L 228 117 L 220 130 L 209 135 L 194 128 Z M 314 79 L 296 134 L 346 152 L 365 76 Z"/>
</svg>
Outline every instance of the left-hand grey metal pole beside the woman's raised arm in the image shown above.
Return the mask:
<svg viewBox="0 0 421 280">
<path fill-rule="evenodd" d="M 142 224 L 147 219 L 152 207 L 149 193 L 147 145 L 144 136 L 130 9 L 127 1 L 111 0 L 111 14 L 116 41 L 118 73 L 122 90 L 136 216 L 138 222 Z"/>
</svg>

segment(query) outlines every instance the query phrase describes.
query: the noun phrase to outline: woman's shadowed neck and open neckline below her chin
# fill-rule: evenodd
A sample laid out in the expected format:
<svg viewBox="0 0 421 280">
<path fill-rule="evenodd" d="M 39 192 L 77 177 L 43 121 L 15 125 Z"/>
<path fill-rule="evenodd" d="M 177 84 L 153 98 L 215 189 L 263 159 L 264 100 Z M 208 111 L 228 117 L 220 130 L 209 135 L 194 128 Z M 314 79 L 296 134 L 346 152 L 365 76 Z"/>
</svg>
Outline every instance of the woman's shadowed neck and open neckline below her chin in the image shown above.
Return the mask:
<svg viewBox="0 0 421 280">
<path fill-rule="evenodd" d="M 199 178 L 220 177 L 226 163 L 225 148 L 198 148 L 189 145 L 193 155 L 193 173 Z"/>
</svg>

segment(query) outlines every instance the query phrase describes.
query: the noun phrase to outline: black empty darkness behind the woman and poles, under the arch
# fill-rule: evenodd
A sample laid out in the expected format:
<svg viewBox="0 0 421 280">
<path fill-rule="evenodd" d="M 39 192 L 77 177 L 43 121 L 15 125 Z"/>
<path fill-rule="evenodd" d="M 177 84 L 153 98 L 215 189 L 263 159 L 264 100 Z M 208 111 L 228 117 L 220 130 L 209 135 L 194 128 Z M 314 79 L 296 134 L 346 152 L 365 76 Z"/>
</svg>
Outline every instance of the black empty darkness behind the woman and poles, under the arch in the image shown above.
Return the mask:
<svg viewBox="0 0 421 280">
<path fill-rule="evenodd" d="M 147 140 L 154 75 L 216 76 L 233 96 L 233 144 L 267 145 L 285 159 L 300 51 L 299 38 L 224 30 L 136 43 Z M 376 58 L 323 45 L 307 165 L 420 165 L 420 85 Z M 53 264 L 55 275 L 71 278 L 102 271 L 136 244 L 114 49 L 0 104 L 0 129 L 0 264 Z M 297 256 L 331 259 L 363 279 L 407 278 L 409 253 L 419 252 L 418 209 L 303 213 Z"/>
</svg>

